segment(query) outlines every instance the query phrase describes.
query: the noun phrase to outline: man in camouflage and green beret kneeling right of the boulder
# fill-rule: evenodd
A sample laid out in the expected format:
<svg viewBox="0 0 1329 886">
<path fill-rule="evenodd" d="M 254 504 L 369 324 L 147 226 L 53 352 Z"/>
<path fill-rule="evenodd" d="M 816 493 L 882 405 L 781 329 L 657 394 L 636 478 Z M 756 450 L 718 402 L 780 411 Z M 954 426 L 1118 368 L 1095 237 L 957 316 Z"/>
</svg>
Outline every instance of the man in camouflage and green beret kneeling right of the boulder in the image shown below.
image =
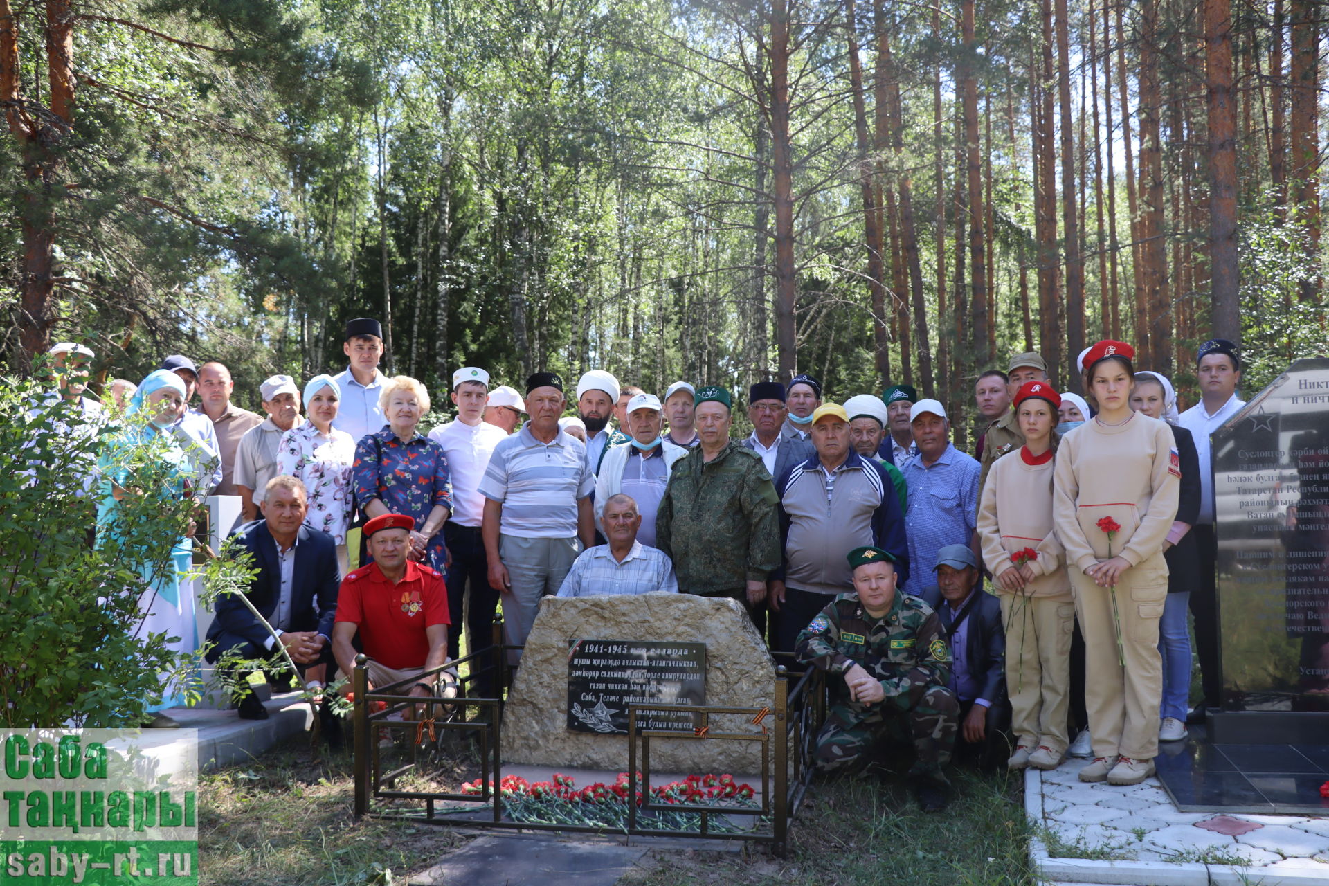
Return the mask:
<svg viewBox="0 0 1329 886">
<path fill-rule="evenodd" d="M 799 635 L 799 660 L 825 671 L 831 689 L 816 766 L 867 765 L 881 735 L 904 720 L 917 752 L 909 781 L 918 805 L 937 812 L 948 800 L 942 768 L 960 720 L 960 703 L 946 687 L 950 648 L 941 620 L 917 596 L 896 592 L 889 553 L 856 547 L 849 567 L 855 592 L 839 595 Z"/>
</svg>

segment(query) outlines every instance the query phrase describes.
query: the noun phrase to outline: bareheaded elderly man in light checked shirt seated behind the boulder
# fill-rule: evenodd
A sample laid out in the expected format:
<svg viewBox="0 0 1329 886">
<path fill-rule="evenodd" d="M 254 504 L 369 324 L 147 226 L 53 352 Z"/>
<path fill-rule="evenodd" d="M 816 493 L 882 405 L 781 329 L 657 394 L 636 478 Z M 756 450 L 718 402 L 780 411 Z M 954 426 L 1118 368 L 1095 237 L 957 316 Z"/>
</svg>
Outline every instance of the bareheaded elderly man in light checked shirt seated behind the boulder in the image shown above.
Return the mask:
<svg viewBox="0 0 1329 886">
<path fill-rule="evenodd" d="M 664 551 L 637 541 L 642 515 L 631 495 L 610 495 L 601 521 L 609 543 L 587 547 L 573 561 L 558 596 L 678 592 L 674 562 Z"/>
</svg>

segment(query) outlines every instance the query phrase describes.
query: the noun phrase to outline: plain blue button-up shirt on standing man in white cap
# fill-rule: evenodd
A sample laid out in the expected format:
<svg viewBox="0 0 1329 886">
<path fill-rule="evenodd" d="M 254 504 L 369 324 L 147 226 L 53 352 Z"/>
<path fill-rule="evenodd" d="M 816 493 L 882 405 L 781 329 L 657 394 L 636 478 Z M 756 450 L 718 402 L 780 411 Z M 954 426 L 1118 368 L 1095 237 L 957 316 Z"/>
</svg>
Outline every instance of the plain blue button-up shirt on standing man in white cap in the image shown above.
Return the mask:
<svg viewBox="0 0 1329 886">
<path fill-rule="evenodd" d="M 937 551 L 946 545 L 969 545 L 978 522 L 978 474 L 975 458 L 946 444 L 930 468 L 922 454 L 905 462 L 900 473 L 909 486 L 905 533 L 909 537 L 909 578 L 901 586 L 917 596 L 924 582 L 933 580 Z"/>
</svg>

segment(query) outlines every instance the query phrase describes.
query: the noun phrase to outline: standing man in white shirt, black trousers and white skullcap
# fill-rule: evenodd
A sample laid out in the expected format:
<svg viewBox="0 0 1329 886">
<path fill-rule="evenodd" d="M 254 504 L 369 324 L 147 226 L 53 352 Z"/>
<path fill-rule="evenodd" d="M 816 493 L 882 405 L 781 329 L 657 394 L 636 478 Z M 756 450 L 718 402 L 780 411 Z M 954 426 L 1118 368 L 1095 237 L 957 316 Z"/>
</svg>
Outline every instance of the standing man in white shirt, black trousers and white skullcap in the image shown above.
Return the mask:
<svg viewBox="0 0 1329 886">
<path fill-rule="evenodd" d="M 481 420 L 489 402 L 489 373 L 484 369 L 462 367 L 453 372 L 449 397 L 457 406 L 457 418 L 431 430 L 429 440 L 443 448 L 452 478 L 452 517 L 443 525 L 443 538 L 452 555 L 444 574 L 448 611 L 452 612 L 448 658 L 456 659 L 461 654 L 462 614 L 469 631 L 466 650 L 474 652 L 490 643 L 498 591 L 489 586 L 489 559 L 485 557 L 485 541 L 480 537 L 485 513 L 480 481 L 489 468 L 494 446 L 508 434 Z M 477 688 L 481 697 L 490 697 L 490 687 L 485 681 Z"/>
</svg>

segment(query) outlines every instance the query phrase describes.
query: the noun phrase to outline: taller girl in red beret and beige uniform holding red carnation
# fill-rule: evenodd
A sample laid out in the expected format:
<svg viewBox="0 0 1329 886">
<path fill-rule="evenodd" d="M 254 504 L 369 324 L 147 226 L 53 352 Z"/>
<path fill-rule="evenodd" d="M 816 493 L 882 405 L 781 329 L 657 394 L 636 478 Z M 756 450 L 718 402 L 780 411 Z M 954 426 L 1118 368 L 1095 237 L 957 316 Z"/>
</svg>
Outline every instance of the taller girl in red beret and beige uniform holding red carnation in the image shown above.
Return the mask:
<svg viewBox="0 0 1329 886">
<path fill-rule="evenodd" d="M 1135 349 L 1099 341 L 1084 355 L 1098 414 L 1062 438 L 1054 470 L 1057 535 L 1084 632 L 1084 699 L 1094 760 L 1080 781 L 1134 785 L 1154 774 L 1167 600 L 1163 542 L 1181 474 L 1167 424 L 1131 412 Z"/>
</svg>

